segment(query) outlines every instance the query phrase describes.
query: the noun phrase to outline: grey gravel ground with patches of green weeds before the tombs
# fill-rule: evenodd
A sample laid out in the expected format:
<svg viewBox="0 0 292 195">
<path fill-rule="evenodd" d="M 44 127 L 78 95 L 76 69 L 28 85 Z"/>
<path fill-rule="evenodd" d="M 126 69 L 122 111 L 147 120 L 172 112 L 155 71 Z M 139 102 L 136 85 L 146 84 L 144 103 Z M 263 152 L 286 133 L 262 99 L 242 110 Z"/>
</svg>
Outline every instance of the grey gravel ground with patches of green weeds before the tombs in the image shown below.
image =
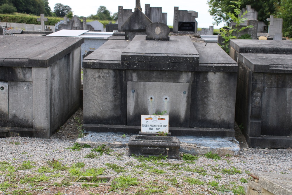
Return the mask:
<svg viewBox="0 0 292 195">
<path fill-rule="evenodd" d="M 199 156 L 197 160 L 147 161 L 127 156 L 128 148 L 117 148 L 109 154 L 82 148 L 66 149 L 74 145 L 78 123 L 82 121 L 80 108 L 51 139 L 9 137 L 0 139 L 0 194 L 244 194 L 248 173 L 253 171 L 292 173 L 292 149 L 242 149 L 240 156 L 223 156 L 220 160 Z M 84 158 L 93 153 L 95 158 Z M 55 159 L 66 166 L 54 170 L 48 161 Z M 75 164 L 74 164 L 75 163 Z M 57 184 L 63 176 L 69 178 L 77 163 L 84 163 L 80 172 L 103 168 L 103 174 L 115 178 L 136 178 L 133 186 L 96 187 Z M 108 164 L 116 164 L 116 172 Z M 76 166 L 75 166 L 76 169 Z M 117 169 L 116 169 L 117 170 Z M 72 171 L 71 171 L 72 172 Z M 129 177 L 127 177 L 129 176 Z M 69 180 L 69 179 L 67 179 Z M 113 184 L 117 184 L 115 181 Z"/>
</svg>

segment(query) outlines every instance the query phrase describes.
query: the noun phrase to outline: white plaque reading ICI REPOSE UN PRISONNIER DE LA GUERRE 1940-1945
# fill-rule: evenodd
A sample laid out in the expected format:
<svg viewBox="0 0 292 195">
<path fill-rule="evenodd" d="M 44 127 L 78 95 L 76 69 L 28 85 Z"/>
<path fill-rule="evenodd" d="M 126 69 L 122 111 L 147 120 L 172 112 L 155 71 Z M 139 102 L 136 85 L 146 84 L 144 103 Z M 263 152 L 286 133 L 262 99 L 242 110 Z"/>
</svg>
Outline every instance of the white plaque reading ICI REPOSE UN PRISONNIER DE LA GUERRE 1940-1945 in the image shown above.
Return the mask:
<svg viewBox="0 0 292 195">
<path fill-rule="evenodd" d="M 141 115 L 141 132 L 168 133 L 168 115 Z"/>
</svg>

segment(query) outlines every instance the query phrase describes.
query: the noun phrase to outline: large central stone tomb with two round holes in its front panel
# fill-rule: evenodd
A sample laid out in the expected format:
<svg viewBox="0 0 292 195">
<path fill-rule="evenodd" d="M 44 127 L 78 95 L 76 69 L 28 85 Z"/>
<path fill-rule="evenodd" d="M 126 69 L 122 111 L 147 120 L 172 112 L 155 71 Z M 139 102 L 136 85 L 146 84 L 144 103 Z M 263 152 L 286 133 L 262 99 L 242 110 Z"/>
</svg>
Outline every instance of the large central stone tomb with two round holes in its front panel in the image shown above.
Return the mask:
<svg viewBox="0 0 292 195">
<path fill-rule="evenodd" d="M 237 63 L 216 43 L 145 37 L 84 58 L 85 130 L 138 134 L 141 115 L 166 110 L 173 136 L 234 137 Z"/>
</svg>

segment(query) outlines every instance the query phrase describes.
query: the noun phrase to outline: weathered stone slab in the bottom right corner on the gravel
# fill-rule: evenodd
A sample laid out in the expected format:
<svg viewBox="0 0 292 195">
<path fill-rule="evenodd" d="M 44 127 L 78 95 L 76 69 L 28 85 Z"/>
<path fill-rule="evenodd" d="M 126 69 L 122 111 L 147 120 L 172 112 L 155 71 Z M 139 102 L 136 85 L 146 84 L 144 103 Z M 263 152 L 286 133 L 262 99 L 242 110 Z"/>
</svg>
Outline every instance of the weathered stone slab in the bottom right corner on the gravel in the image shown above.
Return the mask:
<svg viewBox="0 0 292 195">
<path fill-rule="evenodd" d="M 253 172 L 259 178 L 258 185 L 275 195 L 292 194 L 292 174 L 278 174 L 271 172 Z"/>
</svg>

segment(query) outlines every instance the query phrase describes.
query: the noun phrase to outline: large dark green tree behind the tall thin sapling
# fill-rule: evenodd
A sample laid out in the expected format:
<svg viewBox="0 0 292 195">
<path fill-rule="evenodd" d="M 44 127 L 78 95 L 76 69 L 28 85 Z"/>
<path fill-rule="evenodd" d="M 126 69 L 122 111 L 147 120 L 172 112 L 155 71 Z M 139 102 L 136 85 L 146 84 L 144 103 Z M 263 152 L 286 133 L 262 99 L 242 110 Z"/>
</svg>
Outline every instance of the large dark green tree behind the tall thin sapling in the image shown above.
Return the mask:
<svg viewBox="0 0 292 195">
<path fill-rule="evenodd" d="M 276 12 L 276 6 L 280 0 L 240 0 L 240 2 L 240 9 L 245 8 L 246 5 L 251 5 L 251 8 L 258 12 L 258 20 L 268 24 L 267 18 Z M 210 8 L 208 11 L 215 20 L 214 24 L 218 25 L 225 22 L 228 25 L 230 23 L 230 18 L 226 15 L 228 12 L 234 13 L 234 10 L 230 7 L 232 5 L 230 0 L 208 0 L 208 4 Z"/>
</svg>

